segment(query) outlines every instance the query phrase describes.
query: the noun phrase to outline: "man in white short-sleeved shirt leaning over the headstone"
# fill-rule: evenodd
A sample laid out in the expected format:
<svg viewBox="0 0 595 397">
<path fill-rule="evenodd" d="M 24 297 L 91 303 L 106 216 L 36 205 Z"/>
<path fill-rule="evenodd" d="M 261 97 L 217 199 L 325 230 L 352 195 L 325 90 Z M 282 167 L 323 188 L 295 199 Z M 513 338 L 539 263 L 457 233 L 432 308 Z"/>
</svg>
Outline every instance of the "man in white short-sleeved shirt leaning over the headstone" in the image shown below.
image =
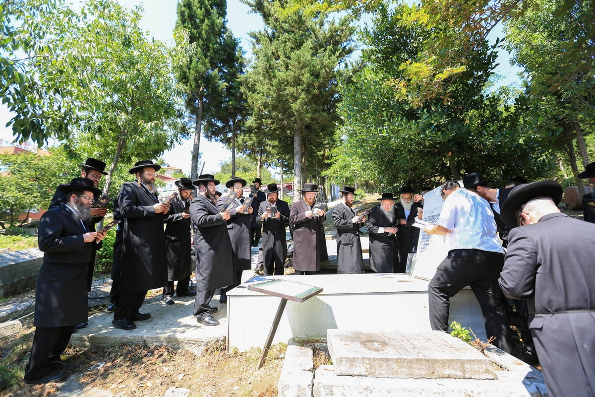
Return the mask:
<svg viewBox="0 0 595 397">
<path fill-rule="evenodd" d="M 437 225 L 428 225 L 430 235 L 446 235 L 452 249 L 440 263 L 428 286 L 430 324 L 447 331 L 450 298 L 471 286 L 486 323 L 486 335 L 494 345 L 512 351 L 511 332 L 498 277 L 504 264 L 504 249 L 496 235 L 496 221 L 487 201 L 458 182 L 441 186 L 444 205 Z"/>
</svg>

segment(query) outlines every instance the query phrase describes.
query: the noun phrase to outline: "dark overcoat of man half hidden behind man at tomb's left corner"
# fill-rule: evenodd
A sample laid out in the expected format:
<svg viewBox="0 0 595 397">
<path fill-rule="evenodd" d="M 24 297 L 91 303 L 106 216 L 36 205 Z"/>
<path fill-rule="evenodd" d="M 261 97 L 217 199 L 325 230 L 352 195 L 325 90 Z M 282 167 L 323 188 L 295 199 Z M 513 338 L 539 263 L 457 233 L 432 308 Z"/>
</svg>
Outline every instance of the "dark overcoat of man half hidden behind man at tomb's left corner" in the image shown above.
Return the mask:
<svg viewBox="0 0 595 397">
<path fill-rule="evenodd" d="M 217 201 L 217 207 L 221 210 L 226 202 L 227 197 L 221 196 Z M 231 215 L 227 221 L 227 233 L 231 240 L 231 250 L 233 256 L 233 270 L 238 273 L 242 270 L 250 270 L 252 268 L 252 252 L 250 252 L 250 223 L 252 214 L 238 214 L 236 209 L 240 207 L 239 199 L 235 199 L 227 211 Z M 239 284 L 242 280 L 236 280 Z"/>
</svg>

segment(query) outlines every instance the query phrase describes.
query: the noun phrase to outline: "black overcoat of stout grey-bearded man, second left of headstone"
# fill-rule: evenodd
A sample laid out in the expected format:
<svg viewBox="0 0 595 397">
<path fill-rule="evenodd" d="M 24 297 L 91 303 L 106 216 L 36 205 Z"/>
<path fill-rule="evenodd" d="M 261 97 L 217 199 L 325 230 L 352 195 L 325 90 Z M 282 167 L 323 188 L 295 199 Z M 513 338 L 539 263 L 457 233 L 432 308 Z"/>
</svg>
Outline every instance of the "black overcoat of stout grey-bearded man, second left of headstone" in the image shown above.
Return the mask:
<svg viewBox="0 0 595 397">
<path fill-rule="evenodd" d="M 384 215 L 380 205 L 377 205 L 372 208 L 366 220 L 366 229 L 370 234 L 370 267 L 376 273 L 393 273 L 394 267 L 399 262 L 399 245 L 396 235 L 389 236 L 387 232 L 378 233 L 379 227 L 397 227 L 399 218 L 397 218 L 396 209 L 393 210 L 393 213 L 394 218 L 390 221 Z"/>
</svg>

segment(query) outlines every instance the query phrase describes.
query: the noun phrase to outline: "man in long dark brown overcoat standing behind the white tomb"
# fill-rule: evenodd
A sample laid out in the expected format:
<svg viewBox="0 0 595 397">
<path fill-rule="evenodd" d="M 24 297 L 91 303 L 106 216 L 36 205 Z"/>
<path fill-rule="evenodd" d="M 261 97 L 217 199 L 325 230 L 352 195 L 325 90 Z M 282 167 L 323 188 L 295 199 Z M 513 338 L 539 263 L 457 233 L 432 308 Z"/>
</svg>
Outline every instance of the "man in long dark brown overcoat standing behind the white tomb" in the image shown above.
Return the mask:
<svg viewBox="0 0 595 397">
<path fill-rule="evenodd" d="M 293 203 L 289 222 L 293 224 L 293 270 L 295 274 L 314 274 L 320 271 L 321 245 L 325 243 L 322 223 L 326 213 L 314 208 L 318 185 L 304 183 L 300 190 L 303 199 Z"/>
</svg>

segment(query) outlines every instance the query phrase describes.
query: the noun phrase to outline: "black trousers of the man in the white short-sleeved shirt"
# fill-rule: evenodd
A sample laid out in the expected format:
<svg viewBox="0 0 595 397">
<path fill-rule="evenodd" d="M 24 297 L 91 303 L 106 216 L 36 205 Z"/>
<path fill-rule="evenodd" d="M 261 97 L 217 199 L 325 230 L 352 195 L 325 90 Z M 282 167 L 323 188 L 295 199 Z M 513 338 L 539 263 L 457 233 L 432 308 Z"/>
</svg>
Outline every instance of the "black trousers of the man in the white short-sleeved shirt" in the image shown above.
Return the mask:
<svg viewBox="0 0 595 397">
<path fill-rule="evenodd" d="M 479 249 L 453 249 L 440 263 L 428 286 L 430 325 L 433 330 L 447 331 L 450 298 L 465 286 L 471 286 L 480 304 L 487 337 L 503 351 L 512 351 L 511 329 L 503 304 L 498 277 L 504 255 Z"/>
</svg>

